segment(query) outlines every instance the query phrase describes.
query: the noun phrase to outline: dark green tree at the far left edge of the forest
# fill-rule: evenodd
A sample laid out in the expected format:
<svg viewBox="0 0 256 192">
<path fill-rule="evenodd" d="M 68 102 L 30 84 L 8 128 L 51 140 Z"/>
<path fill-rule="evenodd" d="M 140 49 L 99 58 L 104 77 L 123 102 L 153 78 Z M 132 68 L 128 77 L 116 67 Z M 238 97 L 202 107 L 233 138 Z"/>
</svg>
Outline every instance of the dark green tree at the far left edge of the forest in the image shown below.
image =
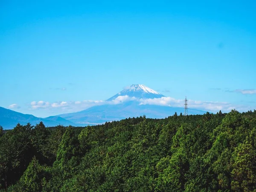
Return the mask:
<svg viewBox="0 0 256 192">
<path fill-rule="evenodd" d="M 20 125 L 0 137 L 0 183 L 7 187 L 19 180 L 33 157 L 31 124 Z"/>
</svg>

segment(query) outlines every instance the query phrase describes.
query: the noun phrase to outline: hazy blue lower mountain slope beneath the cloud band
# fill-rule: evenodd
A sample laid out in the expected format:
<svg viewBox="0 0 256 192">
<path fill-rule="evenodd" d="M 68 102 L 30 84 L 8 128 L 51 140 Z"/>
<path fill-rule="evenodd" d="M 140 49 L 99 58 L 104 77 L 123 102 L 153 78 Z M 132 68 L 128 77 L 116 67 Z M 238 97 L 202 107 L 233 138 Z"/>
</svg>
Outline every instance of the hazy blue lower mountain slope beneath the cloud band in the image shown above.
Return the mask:
<svg viewBox="0 0 256 192">
<path fill-rule="evenodd" d="M 66 113 L 59 116 L 75 123 L 105 123 L 143 115 L 148 118 L 158 119 L 172 116 L 175 112 L 178 115 L 184 112 L 183 108 L 139 104 L 139 102 L 130 101 L 117 105 L 99 105 L 76 113 Z M 189 114 L 204 114 L 205 112 L 189 109 Z"/>
</svg>

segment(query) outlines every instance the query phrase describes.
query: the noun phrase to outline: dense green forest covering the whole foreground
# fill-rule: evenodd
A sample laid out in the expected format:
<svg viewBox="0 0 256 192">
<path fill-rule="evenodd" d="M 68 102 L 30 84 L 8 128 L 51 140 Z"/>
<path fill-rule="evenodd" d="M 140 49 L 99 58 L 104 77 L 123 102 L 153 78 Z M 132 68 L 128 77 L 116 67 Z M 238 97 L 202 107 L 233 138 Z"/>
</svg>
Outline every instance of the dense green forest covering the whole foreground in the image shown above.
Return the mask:
<svg viewBox="0 0 256 192">
<path fill-rule="evenodd" d="M 0 128 L 0 192 L 256 192 L 256 111 Z"/>
</svg>

